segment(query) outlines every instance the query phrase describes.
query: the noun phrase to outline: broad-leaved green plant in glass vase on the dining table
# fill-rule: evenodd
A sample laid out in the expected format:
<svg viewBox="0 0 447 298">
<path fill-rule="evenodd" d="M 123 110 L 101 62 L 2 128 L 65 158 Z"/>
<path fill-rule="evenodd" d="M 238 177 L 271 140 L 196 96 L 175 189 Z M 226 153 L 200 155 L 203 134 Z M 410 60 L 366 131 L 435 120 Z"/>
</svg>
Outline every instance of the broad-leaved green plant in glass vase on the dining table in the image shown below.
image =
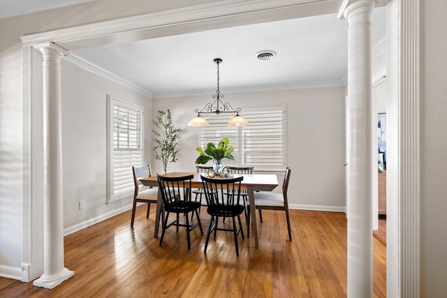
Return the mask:
<svg viewBox="0 0 447 298">
<path fill-rule="evenodd" d="M 233 146 L 228 145 L 230 140 L 228 138 L 223 137 L 223 139 L 217 144 L 217 146 L 209 142 L 205 148 L 197 147 L 196 151 L 198 152 L 198 158 L 196 159 L 197 165 L 204 165 L 208 161 L 213 160 L 213 170 L 214 172 L 220 173 L 222 172 L 222 159 L 234 159 L 232 153 L 235 150 Z"/>
</svg>

